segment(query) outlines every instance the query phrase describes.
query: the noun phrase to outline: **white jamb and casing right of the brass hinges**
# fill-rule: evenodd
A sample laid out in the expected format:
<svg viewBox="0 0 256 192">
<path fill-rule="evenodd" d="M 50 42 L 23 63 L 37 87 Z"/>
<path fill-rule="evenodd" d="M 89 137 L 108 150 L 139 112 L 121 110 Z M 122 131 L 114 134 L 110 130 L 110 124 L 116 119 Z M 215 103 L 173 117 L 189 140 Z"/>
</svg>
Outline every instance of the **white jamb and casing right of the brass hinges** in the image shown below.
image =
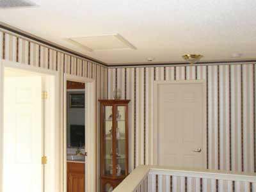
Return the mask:
<svg viewBox="0 0 256 192">
<path fill-rule="evenodd" d="M 47 164 L 44 164 L 44 189 L 45 192 L 60 191 L 60 146 L 58 127 L 58 102 L 56 102 L 57 87 L 54 76 L 42 77 L 42 91 L 47 93 L 47 98 L 42 99 L 44 104 L 44 156 Z"/>
</svg>

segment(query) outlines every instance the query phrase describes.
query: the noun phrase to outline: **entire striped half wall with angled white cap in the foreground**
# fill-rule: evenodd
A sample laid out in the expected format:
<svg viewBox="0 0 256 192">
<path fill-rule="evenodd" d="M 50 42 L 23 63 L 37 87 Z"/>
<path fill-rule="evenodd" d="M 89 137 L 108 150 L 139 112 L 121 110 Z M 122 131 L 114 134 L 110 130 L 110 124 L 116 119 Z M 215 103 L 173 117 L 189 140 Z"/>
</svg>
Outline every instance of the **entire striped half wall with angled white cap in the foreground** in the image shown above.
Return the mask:
<svg viewBox="0 0 256 192">
<path fill-rule="evenodd" d="M 256 174 L 138 166 L 113 192 L 256 192 Z"/>
</svg>

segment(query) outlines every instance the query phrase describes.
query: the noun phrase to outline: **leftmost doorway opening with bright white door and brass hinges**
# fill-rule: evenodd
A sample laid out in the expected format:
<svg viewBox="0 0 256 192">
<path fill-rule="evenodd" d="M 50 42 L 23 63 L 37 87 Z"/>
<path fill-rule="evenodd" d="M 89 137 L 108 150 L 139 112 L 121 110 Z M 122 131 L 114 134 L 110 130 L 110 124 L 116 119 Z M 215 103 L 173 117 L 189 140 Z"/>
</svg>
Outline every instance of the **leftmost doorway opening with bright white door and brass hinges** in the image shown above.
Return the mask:
<svg viewBox="0 0 256 192">
<path fill-rule="evenodd" d="M 56 78 L 3 67 L 2 191 L 58 191 Z"/>
</svg>

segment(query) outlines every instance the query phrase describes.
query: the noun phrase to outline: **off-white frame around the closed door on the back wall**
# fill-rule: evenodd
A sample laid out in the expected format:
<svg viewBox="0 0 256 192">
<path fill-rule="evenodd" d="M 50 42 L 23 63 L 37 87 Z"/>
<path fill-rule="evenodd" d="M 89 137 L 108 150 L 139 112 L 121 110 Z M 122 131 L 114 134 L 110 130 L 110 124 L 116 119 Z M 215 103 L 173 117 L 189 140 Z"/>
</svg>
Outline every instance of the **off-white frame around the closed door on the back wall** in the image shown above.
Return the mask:
<svg viewBox="0 0 256 192">
<path fill-rule="evenodd" d="M 203 162 L 204 165 L 203 167 L 206 169 L 206 164 L 207 164 L 207 148 L 206 148 L 206 82 L 204 79 L 200 80 L 178 80 L 178 81 L 154 81 L 154 128 L 153 128 L 153 135 L 150 136 L 151 140 L 153 141 L 153 152 L 151 154 L 152 159 L 153 159 L 153 164 L 158 165 L 158 86 L 160 84 L 202 84 L 203 86 L 203 124 L 205 127 L 203 127 L 203 151 L 204 151 L 204 156 L 203 156 Z"/>
</svg>

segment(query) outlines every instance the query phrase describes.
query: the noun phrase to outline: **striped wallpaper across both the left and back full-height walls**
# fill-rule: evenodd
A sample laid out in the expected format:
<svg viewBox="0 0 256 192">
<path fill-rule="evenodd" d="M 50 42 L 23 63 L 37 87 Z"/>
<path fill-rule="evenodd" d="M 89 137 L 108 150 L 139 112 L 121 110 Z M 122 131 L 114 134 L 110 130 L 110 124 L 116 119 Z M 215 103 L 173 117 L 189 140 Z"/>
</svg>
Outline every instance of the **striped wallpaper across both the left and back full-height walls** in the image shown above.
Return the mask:
<svg viewBox="0 0 256 192">
<path fill-rule="evenodd" d="M 0 58 L 55 70 L 61 77 L 67 73 L 95 79 L 96 100 L 113 99 L 114 88 L 121 88 L 122 98 L 131 99 L 130 171 L 153 161 L 154 80 L 205 79 L 207 168 L 256 172 L 255 64 L 107 68 L 4 29 Z M 96 113 L 99 135 L 99 102 Z"/>
</svg>

